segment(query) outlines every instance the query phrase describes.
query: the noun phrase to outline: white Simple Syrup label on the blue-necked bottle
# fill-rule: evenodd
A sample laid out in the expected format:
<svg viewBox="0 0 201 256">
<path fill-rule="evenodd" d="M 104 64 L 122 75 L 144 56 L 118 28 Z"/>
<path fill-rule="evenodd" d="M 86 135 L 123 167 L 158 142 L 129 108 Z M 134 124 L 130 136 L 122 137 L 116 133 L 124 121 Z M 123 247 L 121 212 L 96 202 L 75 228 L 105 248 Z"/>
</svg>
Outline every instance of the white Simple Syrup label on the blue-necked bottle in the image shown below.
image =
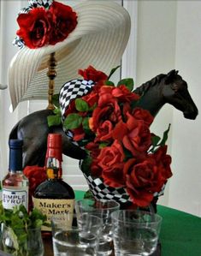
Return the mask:
<svg viewBox="0 0 201 256">
<path fill-rule="evenodd" d="M 24 205 L 28 209 L 28 188 L 3 188 L 3 208 L 13 209 L 16 205 Z"/>
</svg>

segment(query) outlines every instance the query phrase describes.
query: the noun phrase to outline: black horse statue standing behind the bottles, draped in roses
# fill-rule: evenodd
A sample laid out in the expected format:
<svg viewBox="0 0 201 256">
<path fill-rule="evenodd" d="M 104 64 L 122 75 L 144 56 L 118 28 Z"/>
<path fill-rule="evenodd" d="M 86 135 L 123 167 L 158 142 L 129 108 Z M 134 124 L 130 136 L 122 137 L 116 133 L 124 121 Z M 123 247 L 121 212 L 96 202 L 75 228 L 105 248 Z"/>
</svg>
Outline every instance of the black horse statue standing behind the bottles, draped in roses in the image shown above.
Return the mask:
<svg viewBox="0 0 201 256">
<path fill-rule="evenodd" d="M 187 119 L 195 119 L 198 109 L 187 90 L 186 81 L 172 70 L 168 74 L 158 74 L 134 90 L 143 96 L 138 106 L 149 110 L 156 116 L 164 104 L 171 104 L 183 112 Z M 44 166 L 47 135 L 50 133 L 62 134 L 63 154 L 76 159 L 85 158 L 86 152 L 75 146 L 62 130 L 62 125 L 49 127 L 47 116 L 53 115 L 52 110 L 39 110 L 24 117 L 18 122 L 9 134 L 9 139 L 21 139 L 23 146 L 23 167 L 27 165 Z"/>
</svg>

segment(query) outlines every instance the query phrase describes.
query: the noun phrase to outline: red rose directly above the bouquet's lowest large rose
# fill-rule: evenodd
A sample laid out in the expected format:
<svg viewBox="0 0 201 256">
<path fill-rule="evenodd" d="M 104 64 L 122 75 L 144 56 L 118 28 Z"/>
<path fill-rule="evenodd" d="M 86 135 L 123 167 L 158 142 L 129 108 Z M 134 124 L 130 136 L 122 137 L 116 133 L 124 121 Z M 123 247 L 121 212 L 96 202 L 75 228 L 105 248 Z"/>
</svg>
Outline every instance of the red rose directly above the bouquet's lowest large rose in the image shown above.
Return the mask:
<svg viewBox="0 0 201 256">
<path fill-rule="evenodd" d="M 127 113 L 127 122 L 119 122 L 113 130 L 113 138 L 122 140 L 133 157 L 144 158 L 151 146 L 151 133 L 145 122 Z"/>
</svg>

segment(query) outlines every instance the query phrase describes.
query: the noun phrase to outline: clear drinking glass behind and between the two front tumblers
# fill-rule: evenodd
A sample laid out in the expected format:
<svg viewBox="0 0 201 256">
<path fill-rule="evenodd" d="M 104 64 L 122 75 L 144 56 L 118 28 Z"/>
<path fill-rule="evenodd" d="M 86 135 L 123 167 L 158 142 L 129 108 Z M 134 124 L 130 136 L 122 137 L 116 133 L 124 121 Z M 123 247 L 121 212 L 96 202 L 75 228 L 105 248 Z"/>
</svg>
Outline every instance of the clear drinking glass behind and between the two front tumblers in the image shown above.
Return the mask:
<svg viewBox="0 0 201 256">
<path fill-rule="evenodd" d="M 102 235 L 98 244 L 98 256 L 110 255 L 113 251 L 111 213 L 119 210 L 120 204 L 115 200 L 80 199 L 75 201 L 75 211 L 88 212 L 98 216 L 103 221 Z"/>
</svg>

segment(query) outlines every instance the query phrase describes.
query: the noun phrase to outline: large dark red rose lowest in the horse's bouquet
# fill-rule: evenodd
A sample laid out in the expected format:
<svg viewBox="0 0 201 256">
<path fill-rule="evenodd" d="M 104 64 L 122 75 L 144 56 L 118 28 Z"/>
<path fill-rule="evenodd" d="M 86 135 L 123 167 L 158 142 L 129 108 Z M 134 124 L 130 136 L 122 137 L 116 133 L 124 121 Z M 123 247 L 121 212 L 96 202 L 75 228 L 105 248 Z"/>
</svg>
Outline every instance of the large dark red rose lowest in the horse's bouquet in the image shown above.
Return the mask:
<svg viewBox="0 0 201 256">
<path fill-rule="evenodd" d="M 139 164 L 136 159 L 129 159 L 124 166 L 124 175 L 127 193 L 139 206 L 150 205 L 153 193 L 160 192 L 164 184 L 157 162 L 149 157 Z"/>
</svg>

